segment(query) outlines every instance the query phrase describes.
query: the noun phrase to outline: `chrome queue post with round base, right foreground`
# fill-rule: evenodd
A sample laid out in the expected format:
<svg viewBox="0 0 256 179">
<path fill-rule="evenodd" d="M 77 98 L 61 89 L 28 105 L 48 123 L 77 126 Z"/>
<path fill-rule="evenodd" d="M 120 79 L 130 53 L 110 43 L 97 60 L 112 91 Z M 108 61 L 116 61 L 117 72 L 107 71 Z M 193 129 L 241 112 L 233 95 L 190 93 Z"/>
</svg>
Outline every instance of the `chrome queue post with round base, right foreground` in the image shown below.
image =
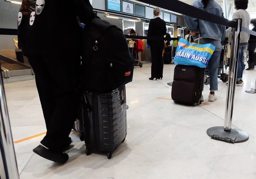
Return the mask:
<svg viewBox="0 0 256 179">
<path fill-rule="evenodd" d="M 237 28 L 232 29 L 233 36 L 224 127 L 211 127 L 207 130 L 208 136 L 210 136 L 212 139 L 222 140 L 229 143 L 245 142 L 249 139 L 248 134 L 244 131 L 239 129 L 232 129 L 233 107 L 238 70 L 239 42 L 242 31 L 242 19 L 234 19 L 234 21 L 236 21 L 238 25 Z"/>
</svg>

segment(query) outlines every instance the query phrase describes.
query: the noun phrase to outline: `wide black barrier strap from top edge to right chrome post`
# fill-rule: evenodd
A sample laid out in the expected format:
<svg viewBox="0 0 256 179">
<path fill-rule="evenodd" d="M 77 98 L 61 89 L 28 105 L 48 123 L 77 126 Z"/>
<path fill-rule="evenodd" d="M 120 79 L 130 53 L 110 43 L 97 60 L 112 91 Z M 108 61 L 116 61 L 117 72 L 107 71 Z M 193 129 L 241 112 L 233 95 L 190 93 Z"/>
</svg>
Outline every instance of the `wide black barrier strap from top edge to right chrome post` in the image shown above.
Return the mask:
<svg viewBox="0 0 256 179">
<path fill-rule="evenodd" d="M 228 19 L 198 9 L 197 7 L 190 6 L 189 4 L 178 0 L 140 0 L 140 2 L 151 4 L 157 7 L 164 6 L 164 8 L 167 10 L 227 27 L 237 28 L 238 26 L 237 22 L 229 21 Z"/>
</svg>

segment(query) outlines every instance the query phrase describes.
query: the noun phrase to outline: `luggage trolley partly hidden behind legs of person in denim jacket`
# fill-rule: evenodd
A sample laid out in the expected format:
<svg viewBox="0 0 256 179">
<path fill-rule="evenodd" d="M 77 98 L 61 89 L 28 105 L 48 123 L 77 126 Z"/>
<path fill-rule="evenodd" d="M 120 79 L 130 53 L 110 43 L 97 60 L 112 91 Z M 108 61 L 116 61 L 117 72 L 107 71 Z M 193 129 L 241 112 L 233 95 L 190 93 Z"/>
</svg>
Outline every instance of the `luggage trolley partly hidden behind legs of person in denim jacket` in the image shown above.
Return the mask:
<svg viewBox="0 0 256 179">
<path fill-rule="evenodd" d="M 226 83 L 229 79 L 229 75 L 227 73 L 224 73 L 224 67 L 227 61 L 227 45 L 222 45 L 222 51 L 221 56 L 219 60 L 219 66 L 218 66 L 218 78 L 222 80 L 222 82 Z M 204 84 L 209 85 L 210 84 L 210 78 L 209 78 L 209 70 L 208 66 L 205 70 L 204 75 Z"/>
</svg>

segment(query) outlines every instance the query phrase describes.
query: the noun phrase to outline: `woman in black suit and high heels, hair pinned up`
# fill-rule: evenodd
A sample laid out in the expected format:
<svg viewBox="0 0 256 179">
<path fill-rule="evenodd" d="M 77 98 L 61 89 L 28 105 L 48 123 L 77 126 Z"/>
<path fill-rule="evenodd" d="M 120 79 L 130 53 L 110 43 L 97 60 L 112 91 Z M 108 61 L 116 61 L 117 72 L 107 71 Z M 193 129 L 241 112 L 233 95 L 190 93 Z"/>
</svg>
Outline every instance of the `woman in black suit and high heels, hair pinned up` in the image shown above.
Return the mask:
<svg viewBox="0 0 256 179">
<path fill-rule="evenodd" d="M 163 38 L 166 35 L 166 23 L 160 18 L 160 8 L 154 9 L 154 19 L 151 19 L 148 27 L 148 37 Z M 151 78 L 150 80 L 163 78 L 163 48 L 164 40 L 148 40 L 151 50 Z"/>
</svg>

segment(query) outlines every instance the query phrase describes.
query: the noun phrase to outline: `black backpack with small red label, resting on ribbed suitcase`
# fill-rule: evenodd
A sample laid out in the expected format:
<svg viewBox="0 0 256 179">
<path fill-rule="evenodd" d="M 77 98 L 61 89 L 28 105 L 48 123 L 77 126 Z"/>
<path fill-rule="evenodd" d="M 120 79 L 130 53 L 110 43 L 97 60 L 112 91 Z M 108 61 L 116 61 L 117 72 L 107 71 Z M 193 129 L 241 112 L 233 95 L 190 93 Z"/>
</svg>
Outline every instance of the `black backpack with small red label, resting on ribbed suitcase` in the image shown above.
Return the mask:
<svg viewBox="0 0 256 179">
<path fill-rule="evenodd" d="M 107 92 L 133 80 L 131 57 L 123 31 L 99 18 L 83 30 L 82 87 L 93 92 Z"/>
</svg>

